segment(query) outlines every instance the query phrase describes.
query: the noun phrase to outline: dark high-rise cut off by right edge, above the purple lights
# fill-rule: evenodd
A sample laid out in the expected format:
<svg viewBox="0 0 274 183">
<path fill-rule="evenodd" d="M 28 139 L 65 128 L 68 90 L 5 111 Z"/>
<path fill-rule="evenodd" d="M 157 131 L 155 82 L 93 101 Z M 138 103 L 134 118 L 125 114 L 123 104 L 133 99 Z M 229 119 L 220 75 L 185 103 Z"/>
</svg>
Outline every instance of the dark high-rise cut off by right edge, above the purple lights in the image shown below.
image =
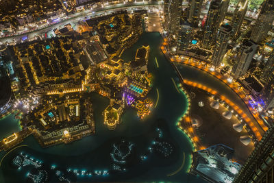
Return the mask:
<svg viewBox="0 0 274 183">
<path fill-rule="evenodd" d="M 273 79 L 272 73 L 274 71 L 274 50 L 272 51 L 271 55 L 269 56 L 269 59 L 267 60 L 266 64 L 264 65 L 264 68 L 262 69 L 262 75 L 260 77 L 260 80 L 264 82 L 265 84 L 269 83 L 271 79 Z"/>
</svg>

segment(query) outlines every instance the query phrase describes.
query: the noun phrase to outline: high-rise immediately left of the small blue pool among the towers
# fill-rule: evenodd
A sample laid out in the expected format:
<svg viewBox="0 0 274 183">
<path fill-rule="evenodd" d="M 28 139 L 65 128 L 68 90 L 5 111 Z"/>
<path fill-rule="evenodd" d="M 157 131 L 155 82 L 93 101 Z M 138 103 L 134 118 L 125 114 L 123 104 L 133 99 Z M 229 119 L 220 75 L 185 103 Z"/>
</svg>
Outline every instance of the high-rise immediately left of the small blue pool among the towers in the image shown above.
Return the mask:
<svg viewBox="0 0 274 183">
<path fill-rule="evenodd" d="M 179 25 L 179 34 L 177 38 L 178 53 L 188 48 L 188 45 L 191 41 L 191 32 L 192 32 L 192 27 L 190 23 L 183 22 L 182 24 Z"/>
</svg>

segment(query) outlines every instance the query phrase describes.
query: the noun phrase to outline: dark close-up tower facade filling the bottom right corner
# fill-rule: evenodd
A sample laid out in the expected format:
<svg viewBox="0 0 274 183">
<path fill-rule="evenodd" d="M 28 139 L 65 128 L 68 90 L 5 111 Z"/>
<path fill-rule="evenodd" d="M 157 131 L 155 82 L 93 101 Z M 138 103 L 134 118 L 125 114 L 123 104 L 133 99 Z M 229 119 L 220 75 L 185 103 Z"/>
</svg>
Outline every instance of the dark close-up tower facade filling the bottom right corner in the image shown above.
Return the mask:
<svg viewBox="0 0 274 183">
<path fill-rule="evenodd" d="M 265 132 L 234 179 L 234 183 L 244 182 L 274 182 L 274 127 Z"/>
</svg>

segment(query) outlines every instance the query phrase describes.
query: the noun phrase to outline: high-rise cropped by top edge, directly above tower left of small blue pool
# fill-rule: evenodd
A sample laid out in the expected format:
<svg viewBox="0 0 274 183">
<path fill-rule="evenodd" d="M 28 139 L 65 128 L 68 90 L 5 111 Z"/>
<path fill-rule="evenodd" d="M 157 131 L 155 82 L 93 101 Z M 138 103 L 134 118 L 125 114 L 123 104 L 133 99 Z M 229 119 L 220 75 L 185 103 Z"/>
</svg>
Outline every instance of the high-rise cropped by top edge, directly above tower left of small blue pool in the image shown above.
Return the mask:
<svg viewBox="0 0 274 183">
<path fill-rule="evenodd" d="M 195 27 L 199 24 L 202 3 L 203 0 L 190 0 L 188 3 L 188 21 Z"/>
</svg>

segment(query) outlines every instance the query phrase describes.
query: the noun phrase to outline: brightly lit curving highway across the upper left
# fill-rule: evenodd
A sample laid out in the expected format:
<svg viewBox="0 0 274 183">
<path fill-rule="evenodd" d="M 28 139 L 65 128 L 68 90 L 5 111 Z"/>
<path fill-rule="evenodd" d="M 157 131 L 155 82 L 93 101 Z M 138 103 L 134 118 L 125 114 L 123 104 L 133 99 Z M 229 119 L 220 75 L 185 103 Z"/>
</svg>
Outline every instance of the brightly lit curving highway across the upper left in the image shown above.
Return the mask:
<svg viewBox="0 0 274 183">
<path fill-rule="evenodd" d="M 64 27 L 67 23 L 75 23 L 77 21 L 83 21 L 84 19 L 91 19 L 95 18 L 97 16 L 102 16 L 105 14 L 111 14 L 114 11 L 121 11 L 121 10 L 140 10 L 140 9 L 149 9 L 149 8 L 160 8 L 161 2 L 157 1 L 143 1 L 143 2 L 137 2 L 137 3 L 121 3 L 121 4 L 115 4 L 115 5 L 107 5 L 103 8 L 96 8 L 93 10 L 86 10 L 79 12 L 77 14 L 74 14 L 74 16 L 71 16 L 67 19 L 64 19 L 63 21 L 60 21 L 59 23 L 55 23 L 53 25 L 49 25 L 48 27 L 42 27 L 41 29 L 36 29 L 33 32 L 26 32 L 24 34 L 16 35 L 16 36 L 8 36 L 0 38 L 0 45 L 5 44 L 6 42 L 14 42 L 18 43 L 21 42 L 21 38 L 28 36 L 28 38 L 34 38 L 35 36 L 45 36 L 45 33 L 49 32 L 52 29 L 56 29 L 59 27 Z"/>
</svg>

